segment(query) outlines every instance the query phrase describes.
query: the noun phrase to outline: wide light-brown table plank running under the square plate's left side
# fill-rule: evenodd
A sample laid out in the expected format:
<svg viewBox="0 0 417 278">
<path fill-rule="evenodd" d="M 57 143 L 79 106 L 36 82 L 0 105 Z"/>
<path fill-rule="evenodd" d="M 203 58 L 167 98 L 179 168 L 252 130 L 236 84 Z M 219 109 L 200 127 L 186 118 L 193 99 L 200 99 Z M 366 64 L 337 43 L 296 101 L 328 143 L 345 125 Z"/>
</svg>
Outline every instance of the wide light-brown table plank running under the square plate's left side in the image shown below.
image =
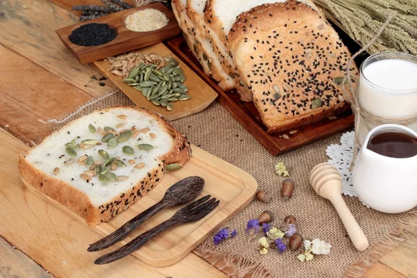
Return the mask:
<svg viewBox="0 0 417 278">
<path fill-rule="evenodd" d="M 152 268 L 133 256 L 108 265 L 93 261 L 108 251 L 86 252 L 99 236 L 31 193 L 19 178 L 19 154 L 28 146 L 0 129 L 0 236 L 58 277 L 225 277 L 195 254 L 166 268 Z"/>
</svg>

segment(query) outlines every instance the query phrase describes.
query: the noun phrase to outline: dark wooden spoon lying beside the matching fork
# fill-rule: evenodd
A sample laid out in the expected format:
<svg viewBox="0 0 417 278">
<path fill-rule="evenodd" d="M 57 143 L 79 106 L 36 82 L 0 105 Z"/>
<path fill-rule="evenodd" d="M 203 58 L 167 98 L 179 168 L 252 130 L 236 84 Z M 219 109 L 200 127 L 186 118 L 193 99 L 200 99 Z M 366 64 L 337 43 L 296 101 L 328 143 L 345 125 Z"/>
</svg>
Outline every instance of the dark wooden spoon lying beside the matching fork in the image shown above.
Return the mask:
<svg viewBox="0 0 417 278">
<path fill-rule="evenodd" d="M 158 213 L 158 211 L 161 211 L 163 208 L 179 206 L 180 204 L 191 201 L 199 195 L 203 187 L 204 179 L 201 177 L 186 177 L 185 179 L 181 179 L 181 181 L 177 181 L 177 183 L 174 183 L 173 186 L 168 188 L 161 201 L 154 204 L 154 206 L 151 206 L 146 211 L 142 211 L 142 213 L 139 213 L 134 218 L 124 223 L 122 227 L 113 231 L 113 233 L 90 244 L 88 252 L 104 250 L 123 238 L 126 238 L 131 231 L 139 227 L 145 220 Z"/>
</svg>

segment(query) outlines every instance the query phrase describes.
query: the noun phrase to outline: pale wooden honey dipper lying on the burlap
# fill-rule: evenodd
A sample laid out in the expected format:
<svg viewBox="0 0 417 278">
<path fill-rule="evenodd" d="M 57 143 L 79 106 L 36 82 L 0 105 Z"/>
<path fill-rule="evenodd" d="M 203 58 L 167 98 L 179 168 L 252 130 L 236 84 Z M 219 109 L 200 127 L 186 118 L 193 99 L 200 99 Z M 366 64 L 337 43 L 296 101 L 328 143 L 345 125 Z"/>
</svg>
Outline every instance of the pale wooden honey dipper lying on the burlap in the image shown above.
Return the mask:
<svg viewBox="0 0 417 278">
<path fill-rule="evenodd" d="M 368 239 L 343 201 L 342 178 L 336 167 L 327 162 L 317 165 L 311 170 L 310 182 L 318 195 L 332 202 L 354 247 L 359 251 L 366 250 Z"/>
</svg>

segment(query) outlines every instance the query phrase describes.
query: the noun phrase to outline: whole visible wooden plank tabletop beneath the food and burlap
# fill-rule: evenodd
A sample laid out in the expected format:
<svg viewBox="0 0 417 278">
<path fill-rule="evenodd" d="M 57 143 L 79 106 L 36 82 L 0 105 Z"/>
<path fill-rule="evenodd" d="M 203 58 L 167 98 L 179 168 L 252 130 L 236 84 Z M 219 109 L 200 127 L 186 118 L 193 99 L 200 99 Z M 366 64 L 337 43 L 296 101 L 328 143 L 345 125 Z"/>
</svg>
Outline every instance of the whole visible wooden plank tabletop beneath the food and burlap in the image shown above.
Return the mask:
<svg viewBox="0 0 417 278">
<path fill-rule="evenodd" d="M 52 3 L 51 3 L 52 2 Z M 85 252 L 95 232 L 26 190 L 18 154 L 51 133 L 39 120 L 60 119 L 115 88 L 81 65 L 60 43 L 57 28 L 76 22 L 74 4 L 99 0 L 3 0 L 0 10 L 0 277 L 227 277 L 220 262 L 189 254 L 165 268 L 133 256 L 94 265 Z M 30 219 L 30 221 L 28 221 Z M 59 219 L 59 222 L 56 221 Z M 31 223 L 31 224 L 28 224 Z M 417 234 L 380 259 L 367 277 L 417 277 Z M 102 253 L 101 253 L 102 254 Z M 223 270 L 224 271 L 224 270 Z"/>
</svg>

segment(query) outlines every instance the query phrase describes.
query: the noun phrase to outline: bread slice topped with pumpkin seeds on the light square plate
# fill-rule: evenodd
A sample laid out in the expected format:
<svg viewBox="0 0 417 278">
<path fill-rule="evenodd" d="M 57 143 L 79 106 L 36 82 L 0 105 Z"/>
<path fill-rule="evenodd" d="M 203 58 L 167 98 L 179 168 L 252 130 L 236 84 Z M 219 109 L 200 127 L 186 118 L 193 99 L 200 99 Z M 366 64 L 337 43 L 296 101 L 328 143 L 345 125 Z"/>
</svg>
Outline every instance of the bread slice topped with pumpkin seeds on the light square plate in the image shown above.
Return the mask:
<svg viewBox="0 0 417 278">
<path fill-rule="evenodd" d="M 111 133 L 108 127 L 115 130 L 115 137 L 102 142 Z M 115 138 L 121 142 L 112 148 Z M 126 146 L 134 153 L 126 154 Z M 116 160 L 111 163 L 107 156 L 100 156 L 100 149 Z M 186 137 L 163 118 L 142 108 L 115 107 L 80 117 L 52 133 L 20 156 L 19 172 L 26 185 L 94 226 L 137 202 L 161 181 L 166 165 L 182 165 L 190 155 Z M 97 174 L 106 161 L 111 165 L 107 174 Z"/>
</svg>

